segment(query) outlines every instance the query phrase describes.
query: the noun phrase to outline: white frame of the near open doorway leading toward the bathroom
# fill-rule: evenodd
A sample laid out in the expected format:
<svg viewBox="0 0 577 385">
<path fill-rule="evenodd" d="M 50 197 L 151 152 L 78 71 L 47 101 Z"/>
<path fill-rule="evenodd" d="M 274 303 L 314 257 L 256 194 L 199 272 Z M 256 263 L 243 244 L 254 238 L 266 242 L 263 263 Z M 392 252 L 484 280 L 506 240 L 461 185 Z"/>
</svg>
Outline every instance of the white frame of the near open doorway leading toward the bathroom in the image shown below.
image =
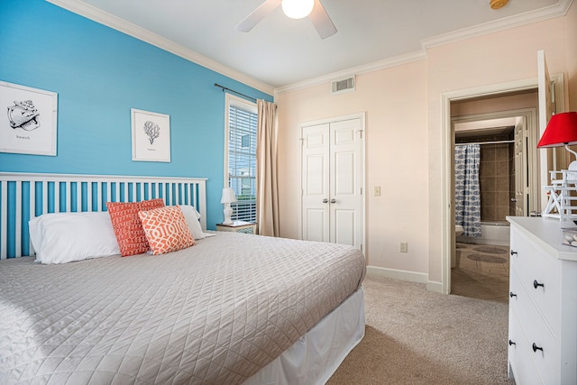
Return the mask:
<svg viewBox="0 0 577 385">
<path fill-rule="evenodd" d="M 552 76 L 551 79 L 560 86 L 555 87 L 557 111 L 564 111 L 563 74 Z M 450 91 L 441 94 L 441 139 L 443 143 L 441 149 L 443 159 L 443 213 L 441 215 L 443 229 L 441 232 L 441 292 L 443 294 L 449 294 L 451 292 L 451 249 L 453 247 L 452 243 L 454 237 L 454 227 L 451 228 L 451 225 L 453 224 L 451 215 L 453 212 L 453 126 L 451 124 L 451 102 L 480 96 L 497 96 L 499 94 L 508 92 L 536 89 L 537 86 L 537 78 L 529 78 L 508 83 L 461 89 L 458 91 Z M 543 161 L 541 162 L 541 167 L 544 167 Z M 539 175 L 542 175 L 543 172 L 543 170 L 540 170 Z"/>
</svg>

